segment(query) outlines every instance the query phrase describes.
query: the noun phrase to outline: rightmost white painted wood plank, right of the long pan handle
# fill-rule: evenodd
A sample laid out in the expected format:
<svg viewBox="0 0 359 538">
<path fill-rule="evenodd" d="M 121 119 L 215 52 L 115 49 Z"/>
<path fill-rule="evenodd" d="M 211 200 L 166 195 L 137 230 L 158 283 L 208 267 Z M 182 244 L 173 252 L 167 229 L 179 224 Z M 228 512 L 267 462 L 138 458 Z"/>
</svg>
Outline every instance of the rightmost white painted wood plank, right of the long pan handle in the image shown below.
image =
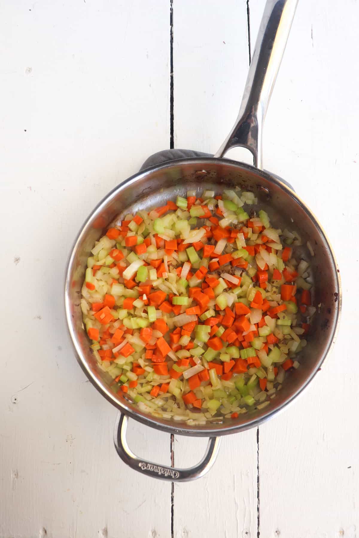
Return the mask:
<svg viewBox="0 0 359 538">
<path fill-rule="evenodd" d="M 250 0 L 254 39 L 263 6 Z M 355 2 L 341 3 L 340 11 L 325 0 L 299 2 L 265 122 L 264 166 L 292 182 L 327 231 L 341 271 L 343 311 L 323 370 L 286 412 L 259 428 L 264 537 L 358 532 L 358 23 Z"/>
</svg>

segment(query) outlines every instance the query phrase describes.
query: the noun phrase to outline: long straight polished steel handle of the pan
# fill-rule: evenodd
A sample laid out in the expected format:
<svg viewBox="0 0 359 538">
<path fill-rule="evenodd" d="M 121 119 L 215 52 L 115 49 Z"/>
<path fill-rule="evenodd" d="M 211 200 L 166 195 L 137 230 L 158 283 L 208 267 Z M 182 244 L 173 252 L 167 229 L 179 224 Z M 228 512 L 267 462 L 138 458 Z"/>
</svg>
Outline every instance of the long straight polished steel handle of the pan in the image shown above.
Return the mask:
<svg viewBox="0 0 359 538">
<path fill-rule="evenodd" d="M 267 0 L 237 121 L 214 157 L 223 157 L 231 147 L 242 146 L 253 154 L 254 165 L 263 169 L 263 122 L 297 3 Z"/>
</svg>

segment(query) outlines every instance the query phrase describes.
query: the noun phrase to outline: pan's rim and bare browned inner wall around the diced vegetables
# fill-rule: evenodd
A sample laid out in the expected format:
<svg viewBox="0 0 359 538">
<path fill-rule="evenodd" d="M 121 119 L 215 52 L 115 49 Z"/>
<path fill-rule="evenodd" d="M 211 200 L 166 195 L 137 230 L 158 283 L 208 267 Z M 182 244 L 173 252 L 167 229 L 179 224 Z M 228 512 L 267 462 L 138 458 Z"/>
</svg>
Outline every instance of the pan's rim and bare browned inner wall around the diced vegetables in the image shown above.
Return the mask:
<svg viewBox="0 0 359 538">
<path fill-rule="evenodd" d="M 235 420 L 223 419 L 199 427 L 143 414 L 125 394 L 118 395 L 112 391 L 112 379 L 98 369 L 89 348 L 82 326 L 80 299 L 90 250 L 103 235 L 104 229 L 118 216 L 164 205 L 167 200 L 175 200 L 177 195 L 186 196 L 187 190 L 202 193 L 203 189 L 208 189 L 220 194 L 224 188 L 238 187 L 256 194 L 258 206 L 252 207 L 265 209 L 274 227 L 299 233 L 304 245 L 300 247 L 301 254 L 311 262 L 313 304 L 321 306 L 314 316 L 308 344 L 300 353 L 301 366 L 287 375 L 283 387 L 269 406 L 242 414 Z M 311 257 L 305 246 L 308 240 L 313 246 L 314 257 Z M 307 385 L 318 371 L 333 341 L 339 315 L 339 293 L 339 277 L 327 239 L 313 215 L 290 189 L 270 174 L 249 165 L 227 159 L 202 158 L 172 161 L 140 172 L 121 183 L 98 204 L 76 239 L 69 259 L 65 303 L 69 330 L 79 363 L 91 382 L 112 404 L 136 420 L 160 429 L 190 435 L 221 435 L 254 426 L 281 409 Z"/>
</svg>

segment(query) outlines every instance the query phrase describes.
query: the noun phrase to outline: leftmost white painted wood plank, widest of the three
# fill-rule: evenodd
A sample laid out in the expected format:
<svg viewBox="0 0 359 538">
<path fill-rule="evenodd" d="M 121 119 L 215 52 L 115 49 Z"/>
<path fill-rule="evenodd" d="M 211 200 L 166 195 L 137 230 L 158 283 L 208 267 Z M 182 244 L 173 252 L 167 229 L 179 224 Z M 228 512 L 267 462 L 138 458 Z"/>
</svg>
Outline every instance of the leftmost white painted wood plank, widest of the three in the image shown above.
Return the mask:
<svg viewBox="0 0 359 538">
<path fill-rule="evenodd" d="M 76 364 L 62 300 L 83 219 L 168 147 L 168 4 L 1 7 L 2 538 L 171 533 L 171 485 L 119 460 L 116 410 Z M 170 463 L 168 434 L 131 422 L 129 438 Z"/>
</svg>

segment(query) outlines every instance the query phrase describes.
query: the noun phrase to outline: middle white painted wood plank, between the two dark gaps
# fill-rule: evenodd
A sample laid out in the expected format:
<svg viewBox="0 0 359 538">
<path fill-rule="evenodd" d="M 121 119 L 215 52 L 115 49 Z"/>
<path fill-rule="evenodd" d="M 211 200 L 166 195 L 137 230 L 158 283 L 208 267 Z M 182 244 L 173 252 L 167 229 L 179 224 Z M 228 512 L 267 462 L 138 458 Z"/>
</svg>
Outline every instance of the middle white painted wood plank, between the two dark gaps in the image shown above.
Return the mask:
<svg viewBox="0 0 359 538">
<path fill-rule="evenodd" d="M 175 147 L 214 153 L 238 114 L 249 66 L 247 5 L 173 6 Z M 176 466 L 198 462 L 207 440 L 175 436 Z M 205 514 L 205 515 L 203 515 Z M 205 478 L 174 485 L 174 536 L 233 538 L 257 533 L 256 430 L 223 438 Z"/>
</svg>

